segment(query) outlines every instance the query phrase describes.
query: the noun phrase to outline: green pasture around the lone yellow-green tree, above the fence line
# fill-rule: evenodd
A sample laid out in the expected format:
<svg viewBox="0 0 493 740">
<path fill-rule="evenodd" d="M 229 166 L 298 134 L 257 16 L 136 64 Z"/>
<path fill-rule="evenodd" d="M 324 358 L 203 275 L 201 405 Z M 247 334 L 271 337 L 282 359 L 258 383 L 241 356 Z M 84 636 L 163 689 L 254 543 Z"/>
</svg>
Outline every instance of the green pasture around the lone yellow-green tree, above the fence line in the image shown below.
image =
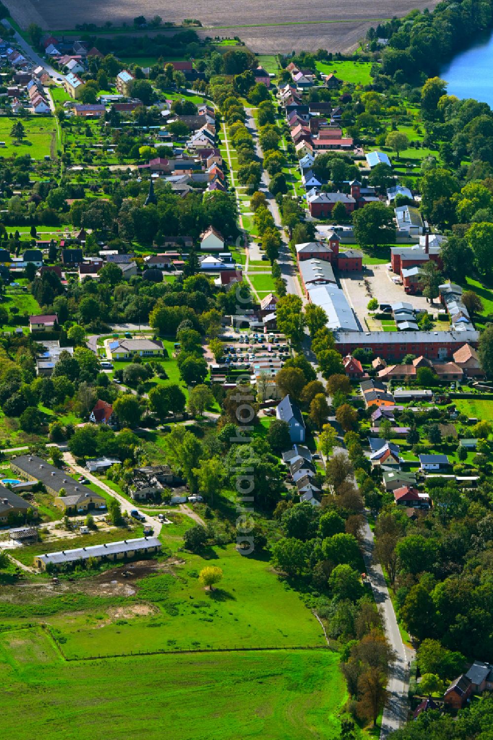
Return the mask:
<svg viewBox="0 0 493 740">
<path fill-rule="evenodd" d="M 167 545 L 166 528 L 161 539 Z M 50 622 L 66 639 L 67 656 L 174 647 L 323 645 L 315 617 L 295 591 L 278 580 L 266 558 L 243 557 L 232 545 L 209 548 L 204 556 L 180 556 L 185 562 L 175 567 L 175 574 L 153 574 L 138 582 L 135 598 L 152 605 L 146 616 L 125 624 L 110 613 L 102 624 L 91 612 L 53 616 Z M 224 573 L 221 585 L 212 593 L 204 591 L 197 577 L 207 564 L 218 565 Z M 104 603 L 98 613 L 101 611 Z M 283 614 L 281 621 L 276 619 L 278 613 Z"/>
</svg>

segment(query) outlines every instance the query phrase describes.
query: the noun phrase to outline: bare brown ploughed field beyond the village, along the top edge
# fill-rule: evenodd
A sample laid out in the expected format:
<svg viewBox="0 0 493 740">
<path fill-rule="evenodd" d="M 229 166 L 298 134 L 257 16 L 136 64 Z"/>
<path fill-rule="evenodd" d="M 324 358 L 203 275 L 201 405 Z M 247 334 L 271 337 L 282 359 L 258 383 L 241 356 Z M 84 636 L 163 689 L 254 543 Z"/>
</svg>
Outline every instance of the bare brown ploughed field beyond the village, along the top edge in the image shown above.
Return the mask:
<svg viewBox="0 0 493 740">
<path fill-rule="evenodd" d="M 87 0 L 84 7 L 76 2 L 61 7 L 58 0 L 45 0 L 42 9 L 33 0 L 7 0 L 6 4 L 13 19 L 24 28 L 36 22 L 43 28 L 64 30 L 87 22 L 88 18 L 97 18 L 99 24 L 109 20 L 115 27 L 127 22 L 131 27 L 135 16 L 133 0 L 122 0 L 118 4 L 107 2 L 102 6 L 99 0 Z M 435 1 L 396 0 L 392 4 L 375 2 L 362 6 L 357 0 L 333 0 L 327 6 L 322 0 L 310 0 L 303 5 L 301 13 L 297 5 L 283 0 L 246 5 L 235 0 L 227 6 L 218 0 L 187 0 L 185 4 L 170 7 L 166 20 L 181 23 L 184 18 L 198 18 L 204 26 L 199 31 L 201 36 L 213 35 L 211 30 L 221 36 L 241 36 L 242 41 L 259 53 L 291 53 L 293 49 L 315 51 L 318 48 L 346 51 L 358 47 L 370 23 L 404 16 L 415 7 L 423 9 L 435 4 Z M 152 18 L 162 14 L 162 4 L 159 0 L 146 0 L 139 11 Z M 160 29 L 155 33 L 167 32 Z"/>
</svg>

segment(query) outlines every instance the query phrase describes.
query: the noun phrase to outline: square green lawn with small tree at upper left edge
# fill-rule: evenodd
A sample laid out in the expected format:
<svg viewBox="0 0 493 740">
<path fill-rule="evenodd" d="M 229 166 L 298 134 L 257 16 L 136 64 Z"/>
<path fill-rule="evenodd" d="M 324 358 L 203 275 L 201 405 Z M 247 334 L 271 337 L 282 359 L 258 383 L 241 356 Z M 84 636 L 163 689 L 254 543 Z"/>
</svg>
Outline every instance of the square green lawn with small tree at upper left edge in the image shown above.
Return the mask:
<svg viewBox="0 0 493 740">
<path fill-rule="evenodd" d="M 12 125 L 13 118 L 0 118 L 0 141 L 5 142 L 5 147 L 0 149 L 1 156 L 30 154 L 33 159 L 43 159 L 45 155 L 56 158 L 56 122 L 53 116 L 23 119 L 26 135 L 20 144 L 10 136 Z"/>
</svg>

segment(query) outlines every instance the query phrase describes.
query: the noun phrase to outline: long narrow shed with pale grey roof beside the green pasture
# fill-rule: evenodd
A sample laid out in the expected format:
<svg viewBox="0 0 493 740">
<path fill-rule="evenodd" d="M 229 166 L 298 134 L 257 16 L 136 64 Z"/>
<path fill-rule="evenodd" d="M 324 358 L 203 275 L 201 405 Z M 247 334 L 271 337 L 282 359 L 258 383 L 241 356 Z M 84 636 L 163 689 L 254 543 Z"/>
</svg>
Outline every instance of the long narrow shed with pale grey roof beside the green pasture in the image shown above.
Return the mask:
<svg viewBox="0 0 493 740">
<path fill-rule="evenodd" d="M 88 548 L 76 550 L 61 550 L 56 553 L 45 553 L 34 556 L 34 565 L 45 571 L 47 565 L 56 568 L 64 563 L 76 563 L 90 557 L 95 560 L 115 562 L 125 557 L 135 557 L 157 553 L 161 550 L 161 542 L 157 537 L 137 537 L 136 539 L 122 539 L 120 542 L 107 542 L 104 545 L 90 545 Z"/>
</svg>

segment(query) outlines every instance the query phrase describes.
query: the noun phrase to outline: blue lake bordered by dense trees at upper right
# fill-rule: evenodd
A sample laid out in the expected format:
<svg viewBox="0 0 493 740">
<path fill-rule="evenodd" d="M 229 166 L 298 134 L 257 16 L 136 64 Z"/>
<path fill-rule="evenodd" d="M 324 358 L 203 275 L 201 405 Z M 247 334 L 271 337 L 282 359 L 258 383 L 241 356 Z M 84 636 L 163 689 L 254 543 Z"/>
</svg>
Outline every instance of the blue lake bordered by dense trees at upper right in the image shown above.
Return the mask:
<svg viewBox="0 0 493 740">
<path fill-rule="evenodd" d="M 493 34 L 457 54 L 440 72 L 449 83 L 448 95 L 475 98 L 493 108 Z"/>
</svg>

